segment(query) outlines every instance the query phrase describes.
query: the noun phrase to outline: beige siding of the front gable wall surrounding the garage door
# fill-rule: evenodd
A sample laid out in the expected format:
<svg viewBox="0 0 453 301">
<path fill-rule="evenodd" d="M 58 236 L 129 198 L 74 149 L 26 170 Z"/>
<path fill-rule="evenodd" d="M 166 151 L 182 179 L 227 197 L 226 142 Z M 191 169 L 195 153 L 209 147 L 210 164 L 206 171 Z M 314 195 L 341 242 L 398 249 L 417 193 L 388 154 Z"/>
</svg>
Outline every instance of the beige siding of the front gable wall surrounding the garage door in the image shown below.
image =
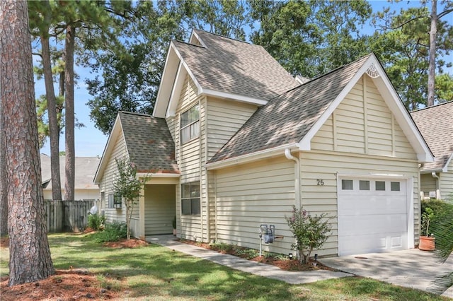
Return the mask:
<svg viewBox="0 0 453 301">
<path fill-rule="evenodd" d="M 357 155 L 355 155 L 357 154 Z M 364 75 L 300 153 L 302 206 L 337 216 L 337 173 L 403 175 L 413 179 L 415 237 L 418 237 L 419 180 L 415 151 L 372 80 Z M 323 180 L 323 186 L 318 185 Z M 338 224 L 320 255 L 338 254 Z"/>
</svg>

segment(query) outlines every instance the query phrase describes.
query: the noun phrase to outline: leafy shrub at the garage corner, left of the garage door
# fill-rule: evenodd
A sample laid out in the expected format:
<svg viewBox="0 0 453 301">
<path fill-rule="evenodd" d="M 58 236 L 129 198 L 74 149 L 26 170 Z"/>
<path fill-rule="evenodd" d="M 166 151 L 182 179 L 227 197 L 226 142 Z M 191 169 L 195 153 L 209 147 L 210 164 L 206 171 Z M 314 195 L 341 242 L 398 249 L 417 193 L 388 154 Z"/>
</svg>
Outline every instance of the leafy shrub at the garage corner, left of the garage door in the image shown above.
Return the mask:
<svg viewBox="0 0 453 301">
<path fill-rule="evenodd" d="M 311 252 L 322 247 L 328 239 L 328 232 L 332 228 L 328 215 L 323 213 L 321 216 L 311 216 L 302 207 L 299 210 L 293 206 L 292 216 L 285 218 L 296 238 L 291 247 L 297 250 L 300 262 L 307 264 Z"/>
</svg>

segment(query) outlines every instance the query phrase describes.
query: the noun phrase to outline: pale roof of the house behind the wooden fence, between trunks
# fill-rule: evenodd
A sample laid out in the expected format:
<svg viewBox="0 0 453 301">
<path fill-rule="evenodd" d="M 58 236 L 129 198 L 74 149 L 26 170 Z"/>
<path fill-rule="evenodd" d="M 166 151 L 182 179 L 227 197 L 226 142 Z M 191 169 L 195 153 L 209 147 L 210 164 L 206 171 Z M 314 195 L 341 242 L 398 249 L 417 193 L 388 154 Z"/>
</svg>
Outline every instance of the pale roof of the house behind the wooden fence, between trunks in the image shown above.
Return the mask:
<svg viewBox="0 0 453 301">
<path fill-rule="evenodd" d="M 98 185 L 93 183 L 93 177 L 96 174 L 101 158 L 98 157 L 76 157 L 76 169 L 74 177 L 74 189 L 99 189 Z M 62 188 L 64 188 L 64 164 L 65 157 L 59 157 L 59 177 Z M 52 175 L 50 171 L 50 156 L 41 154 L 41 175 L 42 182 L 50 181 Z M 52 189 L 52 181 L 45 186 L 45 189 Z"/>
</svg>

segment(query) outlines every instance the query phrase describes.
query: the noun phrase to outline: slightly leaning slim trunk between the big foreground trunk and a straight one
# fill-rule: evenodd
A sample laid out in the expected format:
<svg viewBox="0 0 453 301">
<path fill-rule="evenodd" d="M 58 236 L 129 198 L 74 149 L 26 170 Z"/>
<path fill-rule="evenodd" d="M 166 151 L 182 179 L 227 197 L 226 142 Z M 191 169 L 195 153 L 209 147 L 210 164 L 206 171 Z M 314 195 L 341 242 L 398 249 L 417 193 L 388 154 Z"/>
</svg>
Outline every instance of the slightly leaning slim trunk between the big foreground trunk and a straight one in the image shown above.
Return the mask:
<svg viewBox="0 0 453 301">
<path fill-rule="evenodd" d="M 50 24 L 50 4 L 44 1 L 47 14 L 45 20 Z M 52 177 L 52 199 L 62 199 L 62 184 L 59 175 L 59 122 L 57 119 L 57 100 L 55 99 L 54 83 L 52 78 L 52 64 L 50 63 L 49 28 L 42 31 L 42 69 L 44 69 L 45 97 L 47 99 L 47 114 L 49 117 L 50 138 L 50 172 Z"/>
</svg>

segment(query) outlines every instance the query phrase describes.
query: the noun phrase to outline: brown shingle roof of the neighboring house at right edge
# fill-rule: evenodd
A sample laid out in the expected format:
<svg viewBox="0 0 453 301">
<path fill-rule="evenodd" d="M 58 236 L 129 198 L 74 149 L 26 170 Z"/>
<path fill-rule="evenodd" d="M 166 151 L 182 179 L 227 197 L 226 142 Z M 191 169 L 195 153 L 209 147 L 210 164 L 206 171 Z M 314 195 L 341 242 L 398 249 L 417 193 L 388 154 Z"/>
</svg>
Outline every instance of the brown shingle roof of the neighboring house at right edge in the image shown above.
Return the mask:
<svg viewBox="0 0 453 301">
<path fill-rule="evenodd" d="M 440 170 L 453 154 L 453 101 L 411 112 L 420 133 L 435 156 L 421 170 Z"/>
</svg>

